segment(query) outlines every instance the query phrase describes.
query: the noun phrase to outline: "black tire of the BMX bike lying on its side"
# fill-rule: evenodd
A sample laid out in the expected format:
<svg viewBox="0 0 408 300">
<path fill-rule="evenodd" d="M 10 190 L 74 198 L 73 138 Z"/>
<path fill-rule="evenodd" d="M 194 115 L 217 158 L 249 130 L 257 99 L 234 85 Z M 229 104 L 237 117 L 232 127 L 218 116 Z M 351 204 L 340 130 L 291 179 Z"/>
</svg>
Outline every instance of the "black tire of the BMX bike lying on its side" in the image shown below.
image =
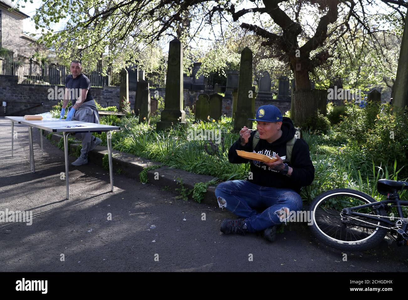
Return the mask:
<svg viewBox="0 0 408 300">
<path fill-rule="evenodd" d="M 368 249 L 373 249 L 378 246 L 378 244 L 384 239 L 386 236 L 388 229 L 382 227 L 376 227 L 375 231 L 363 240 L 358 241 L 345 241 L 345 240 L 338 240 L 332 237 L 329 237 L 326 233 L 322 231 L 322 229 L 317 225 L 316 222 L 316 210 L 319 208 L 319 204 L 324 200 L 330 200 L 331 198 L 335 198 L 335 196 L 347 196 L 351 198 L 357 198 L 366 203 L 373 203 L 377 202 L 375 199 L 363 193 L 361 191 L 356 191 L 353 189 L 334 189 L 327 192 L 324 192 L 317 196 L 312 204 L 310 205 L 310 215 L 313 219 L 313 224 L 310 226 L 310 229 L 313 235 L 324 244 L 333 247 L 335 249 L 343 250 L 343 251 L 366 251 Z M 330 197 L 332 196 L 332 197 Z M 380 216 L 387 216 L 386 211 L 384 208 L 373 209 L 370 208 L 376 215 Z M 335 210 L 337 212 L 337 210 Z M 340 214 L 339 214 L 340 215 Z M 380 221 L 371 220 L 375 224 L 380 224 L 382 226 L 387 226 L 388 224 Z M 347 229 L 346 229 L 347 230 Z M 337 231 L 336 231 L 337 233 Z M 340 231 L 341 234 L 341 231 Z M 347 235 L 346 235 L 347 237 Z"/>
</svg>

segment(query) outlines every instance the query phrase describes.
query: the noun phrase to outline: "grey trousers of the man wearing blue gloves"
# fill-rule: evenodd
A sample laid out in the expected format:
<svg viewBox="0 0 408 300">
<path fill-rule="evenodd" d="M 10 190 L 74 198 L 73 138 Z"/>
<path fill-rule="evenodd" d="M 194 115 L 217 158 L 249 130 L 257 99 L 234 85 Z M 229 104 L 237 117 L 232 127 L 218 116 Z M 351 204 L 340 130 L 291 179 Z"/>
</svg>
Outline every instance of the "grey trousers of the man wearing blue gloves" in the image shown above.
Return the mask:
<svg viewBox="0 0 408 300">
<path fill-rule="evenodd" d="M 71 107 L 72 106 L 68 107 L 68 113 Z M 95 101 L 90 100 L 90 101 L 84 102 L 84 104 L 82 104 L 78 108 L 78 110 L 75 111 L 71 120 L 99 124 L 99 114 L 98 114 L 98 110 L 96 109 Z M 95 140 L 95 136 L 93 136 L 91 132 L 75 134 L 75 138 L 79 139 L 80 136 L 82 140 L 81 156 L 83 158 L 86 158 L 88 157 L 88 149 L 91 145 L 91 142 Z"/>
</svg>

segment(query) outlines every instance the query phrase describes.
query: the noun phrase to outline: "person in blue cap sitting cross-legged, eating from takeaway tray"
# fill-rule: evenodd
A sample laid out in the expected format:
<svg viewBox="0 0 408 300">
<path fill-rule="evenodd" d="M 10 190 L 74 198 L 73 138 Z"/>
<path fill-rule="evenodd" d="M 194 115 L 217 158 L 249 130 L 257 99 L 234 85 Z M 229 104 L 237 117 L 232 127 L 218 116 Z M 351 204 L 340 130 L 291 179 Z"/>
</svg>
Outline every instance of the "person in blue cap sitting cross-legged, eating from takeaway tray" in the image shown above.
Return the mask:
<svg viewBox="0 0 408 300">
<path fill-rule="evenodd" d="M 295 137 L 292 120 L 283 117 L 276 106 L 262 105 L 255 117 L 249 120 L 257 121 L 257 131 L 242 128 L 239 139 L 228 151 L 229 162 L 250 162 L 248 180 L 222 182 L 215 189 L 215 196 L 221 208 L 240 217 L 225 219 L 221 224 L 222 233 L 262 232 L 266 240 L 273 242 L 276 225 L 302 209 L 299 193 L 302 187 L 313 182 L 315 167 L 308 144 Z M 236 150 L 274 156 L 277 160 L 248 160 L 238 156 Z"/>
</svg>

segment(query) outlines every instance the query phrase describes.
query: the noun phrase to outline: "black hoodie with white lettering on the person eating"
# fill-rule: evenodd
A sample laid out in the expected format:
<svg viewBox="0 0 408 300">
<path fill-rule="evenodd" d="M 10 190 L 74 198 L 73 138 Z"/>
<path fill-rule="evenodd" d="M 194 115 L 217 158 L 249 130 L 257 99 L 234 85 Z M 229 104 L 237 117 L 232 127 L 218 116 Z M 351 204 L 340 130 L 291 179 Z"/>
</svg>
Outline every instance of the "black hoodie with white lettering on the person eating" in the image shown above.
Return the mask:
<svg viewBox="0 0 408 300">
<path fill-rule="evenodd" d="M 275 142 L 269 143 L 266 140 L 259 139 L 255 151 L 252 149 L 252 140 L 256 131 L 252 131 L 249 141 L 245 146 L 241 146 L 239 139 L 231 146 L 228 151 L 228 159 L 233 164 L 243 164 L 249 161 L 253 178 L 250 179 L 251 176 L 248 176 L 248 180 L 255 184 L 264 187 L 293 189 L 300 193 L 301 187 L 311 184 L 315 178 L 315 167 L 310 160 L 309 146 L 303 139 L 296 139 L 293 145 L 291 162 L 286 162 L 286 142 L 292 139 L 296 132 L 290 118 L 284 117 L 282 119 L 281 130 L 282 136 L 275 140 Z M 290 177 L 283 175 L 278 171 L 270 169 L 266 164 L 258 160 L 242 158 L 238 156 L 235 150 L 256 152 L 268 156 L 275 156 L 276 153 L 282 158 L 284 163 L 293 168 L 292 175 Z"/>
</svg>

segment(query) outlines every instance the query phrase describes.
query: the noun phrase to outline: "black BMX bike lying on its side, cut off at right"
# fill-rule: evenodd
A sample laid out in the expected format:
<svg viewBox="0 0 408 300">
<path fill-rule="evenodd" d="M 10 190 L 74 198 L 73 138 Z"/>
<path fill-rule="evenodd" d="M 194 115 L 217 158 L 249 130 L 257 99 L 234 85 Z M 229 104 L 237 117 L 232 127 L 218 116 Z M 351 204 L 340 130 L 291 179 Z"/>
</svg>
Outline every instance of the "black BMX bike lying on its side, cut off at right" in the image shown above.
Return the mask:
<svg viewBox="0 0 408 300">
<path fill-rule="evenodd" d="M 388 232 L 398 246 L 408 245 L 408 218 L 404 218 L 399 191 L 408 182 L 380 179 L 377 190 L 386 200 L 376 201 L 353 189 L 334 189 L 317 196 L 310 205 L 311 230 L 322 242 L 344 251 L 365 251 L 376 247 Z M 395 207 L 398 217 L 391 213 Z"/>
</svg>

